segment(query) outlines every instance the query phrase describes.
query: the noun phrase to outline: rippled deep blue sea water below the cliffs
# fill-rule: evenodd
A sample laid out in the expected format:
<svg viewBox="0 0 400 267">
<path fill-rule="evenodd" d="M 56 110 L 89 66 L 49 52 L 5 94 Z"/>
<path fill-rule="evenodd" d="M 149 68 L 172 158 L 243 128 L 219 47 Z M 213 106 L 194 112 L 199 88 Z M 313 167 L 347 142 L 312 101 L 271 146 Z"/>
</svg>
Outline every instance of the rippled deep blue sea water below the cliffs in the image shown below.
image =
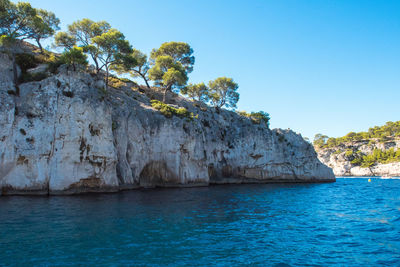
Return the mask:
<svg viewBox="0 0 400 267">
<path fill-rule="evenodd" d="M 0 197 L 1 266 L 400 266 L 400 180 Z"/>
</svg>

